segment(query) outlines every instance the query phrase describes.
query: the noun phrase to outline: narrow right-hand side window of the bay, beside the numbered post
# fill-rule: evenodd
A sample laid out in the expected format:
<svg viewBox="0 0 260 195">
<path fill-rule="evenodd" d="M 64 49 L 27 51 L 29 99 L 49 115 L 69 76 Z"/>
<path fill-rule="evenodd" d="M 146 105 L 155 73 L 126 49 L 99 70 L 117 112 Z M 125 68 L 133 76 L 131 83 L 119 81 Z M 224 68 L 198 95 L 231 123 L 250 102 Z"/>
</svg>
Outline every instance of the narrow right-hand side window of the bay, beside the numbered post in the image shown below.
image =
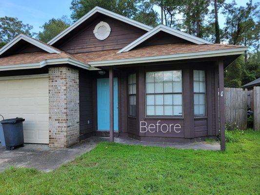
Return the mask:
<svg viewBox="0 0 260 195">
<path fill-rule="evenodd" d="M 206 102 L 206 81 L 205 71 L 193 71 L 193 88 L 194 88 L 194 116 L 205 116 L 205 102 Z"/>
</svg>

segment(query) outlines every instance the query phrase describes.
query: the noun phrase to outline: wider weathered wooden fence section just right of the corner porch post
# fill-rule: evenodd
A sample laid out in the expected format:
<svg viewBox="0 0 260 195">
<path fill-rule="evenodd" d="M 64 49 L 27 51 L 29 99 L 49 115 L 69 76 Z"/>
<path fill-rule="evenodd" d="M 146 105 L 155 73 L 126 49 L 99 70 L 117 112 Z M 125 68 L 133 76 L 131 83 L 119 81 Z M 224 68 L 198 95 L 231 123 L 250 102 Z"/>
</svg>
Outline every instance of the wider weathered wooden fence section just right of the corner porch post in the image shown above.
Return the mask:
<svg viewBox="0 0 260 195">
<path fill-rule="evenodd" d="M 225 88 L 225 122 L 247 127 L 247 89 Z"/>
</svg>

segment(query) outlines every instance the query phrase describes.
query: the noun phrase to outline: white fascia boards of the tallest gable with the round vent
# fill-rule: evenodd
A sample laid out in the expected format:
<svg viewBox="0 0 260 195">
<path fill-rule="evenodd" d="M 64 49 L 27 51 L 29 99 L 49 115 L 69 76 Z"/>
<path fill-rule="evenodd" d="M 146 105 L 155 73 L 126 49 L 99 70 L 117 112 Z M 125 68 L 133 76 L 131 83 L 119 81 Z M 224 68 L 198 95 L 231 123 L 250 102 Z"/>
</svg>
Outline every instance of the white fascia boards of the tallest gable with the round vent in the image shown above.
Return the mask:
<svg viewBox="0 0 260 195">
<path fill-rule="evenodd" d="M 100 14 L 104 14 L 106 16 L 109 16 L 111 18 L 126 22 L 128 24 L 131 24 L 133 26 L 136 26 L 138 28 L 141 28 L 143 30 L 146 31 L 150 31 L 152 29 L 151 26 L 148 26 L 146 24 L 140 23 L 138 21 L 132 20 L 132 19 L 128 19 L 124 16 L 121 16 L 119 14 L 116 14 L 114 12 L 108 11 L 106 9 L 103 9 L 101 7 L 94 7 L 92 10 L 90 10 L 87 14 L 85 14 L 83 17 L 81 17 L 79 20 L 77 20 L 74 24 L 72 24 L 71 26 L 69 26 L 68 28 L 66 28 L 65 30 L 63 30 L 60 34 L 58 34 L 56 37 L 54 37 L 53 39 L 51 39 L 47 44 L 54 44 L 55 42 L 57 42 L 59 39 L 61 39 L 63 36 L 67 35 L 70 31 L 72 31 L 73 29 L 75 29 L 77 26 L 79 26 L 82 22 L 86 21 L 87 19 L 89 19 L 91 16 L 93 16 L 94 14 L 96 14 L 97 12 L 99 12 Z"/>
</svg>

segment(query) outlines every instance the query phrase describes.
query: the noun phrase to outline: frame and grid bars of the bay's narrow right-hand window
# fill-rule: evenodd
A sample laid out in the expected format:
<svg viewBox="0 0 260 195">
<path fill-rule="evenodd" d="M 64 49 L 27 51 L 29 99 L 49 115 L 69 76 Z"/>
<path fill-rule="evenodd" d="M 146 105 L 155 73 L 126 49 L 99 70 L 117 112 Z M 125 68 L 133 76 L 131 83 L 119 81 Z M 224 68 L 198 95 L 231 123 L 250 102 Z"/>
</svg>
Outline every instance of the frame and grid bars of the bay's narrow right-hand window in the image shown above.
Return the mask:
<svg viewBox="0 0 260 195">
<path fill-rule="evenodd" d="M 205 87 L 205 91 L 204 92 L 194 92 L 194 71 L 204 71 L 204 87 Z M 207 71 L 204 70 L 204 69 L 193 69 L 192 70 L 192 76 L 193 76 L 193 115 L 194 115 L 194 118 L 203 118 L 203 117 L 207 117 Z M 198 81 L 198 80 L 196 80 Z M 200 80 L 199 80 L 199 85 L 200 85 Z M 195 115 L 195 103 L 194 103 L 194 97 L 195 97 L 195 94 L 204 94 L 204 102 L 205 102 L 205 106 L 204 106 L 204 115 Z M 196 105 L 202 105 L 202 104 L 196 104 Z"/>
</svg>

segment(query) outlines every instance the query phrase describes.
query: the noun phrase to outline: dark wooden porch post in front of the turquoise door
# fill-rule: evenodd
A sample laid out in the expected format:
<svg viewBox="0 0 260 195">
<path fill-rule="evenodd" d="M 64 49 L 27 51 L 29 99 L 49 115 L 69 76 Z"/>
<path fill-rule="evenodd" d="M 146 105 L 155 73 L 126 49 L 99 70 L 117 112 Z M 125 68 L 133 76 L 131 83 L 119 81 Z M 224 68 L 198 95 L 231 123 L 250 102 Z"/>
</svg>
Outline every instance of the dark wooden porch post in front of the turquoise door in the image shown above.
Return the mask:
<svg viewBox="0 0 260 195">
<path fill-rule="evenodd" d="M 109 68 L 109 141 L 114 141 L 114 72 Z"/>
</svg>

